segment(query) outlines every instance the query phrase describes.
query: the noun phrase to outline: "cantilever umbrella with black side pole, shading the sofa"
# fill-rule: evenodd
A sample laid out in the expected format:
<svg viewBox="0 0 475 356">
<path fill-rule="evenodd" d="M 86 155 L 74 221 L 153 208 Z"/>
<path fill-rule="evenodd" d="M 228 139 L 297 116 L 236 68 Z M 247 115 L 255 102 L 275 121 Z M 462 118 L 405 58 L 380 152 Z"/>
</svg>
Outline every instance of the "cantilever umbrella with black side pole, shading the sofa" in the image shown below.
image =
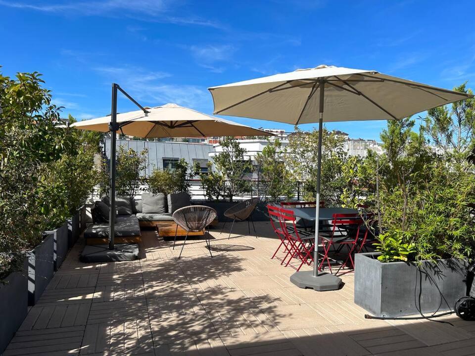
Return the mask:
<svg viewBox="0 0 475 356">
<path fill-rule="evenodd" d="M 140 110 L 117 114 L 118 90 L 134 102 Z M 109 194 L 111 207 L 115 206 L 117 132 L 143 138 L 273 135 L 262 130 L 253 129 L 249 126 L 206 115 L 177 104 L 144 108 L 115 83 L 112 84 L 111 113 L 110 116 L 79 121 L 71 125 L 80 130 L 111 133 Z M 130 256 L 130 254 L 128 255 L 127 253 L 137 251 L 135 246 L 132 248 L 125 246 L 122 250 L 114 248 L 114 221 L 115 209 L 109 209 L 109 251 L 104 249 L 87 253 L 83 251 L 83 256 L 87 255 L 90 259 L 94 258 L 95 261 L 116 261 L 134 258 L 134 256 Z"/>
</svg>

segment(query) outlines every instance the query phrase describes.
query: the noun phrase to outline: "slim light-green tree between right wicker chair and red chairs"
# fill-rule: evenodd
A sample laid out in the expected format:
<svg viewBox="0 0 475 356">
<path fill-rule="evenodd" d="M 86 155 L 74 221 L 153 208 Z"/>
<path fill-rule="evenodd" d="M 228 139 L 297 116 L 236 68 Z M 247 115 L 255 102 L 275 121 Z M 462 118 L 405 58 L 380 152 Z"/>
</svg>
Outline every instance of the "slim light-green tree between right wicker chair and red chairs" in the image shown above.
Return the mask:
<svg viewBox="0 0 475 356">
<path fill-rule="evenodd" d="M 263 195 L 277 202 L 281 197 L 290 198 L 295 190 L 295 181 L 285 167 L 282 158 L 282 144 L 279 140 L 269 142 L 262 153 L 256 156 L 256 171 Z"/>
</svg>

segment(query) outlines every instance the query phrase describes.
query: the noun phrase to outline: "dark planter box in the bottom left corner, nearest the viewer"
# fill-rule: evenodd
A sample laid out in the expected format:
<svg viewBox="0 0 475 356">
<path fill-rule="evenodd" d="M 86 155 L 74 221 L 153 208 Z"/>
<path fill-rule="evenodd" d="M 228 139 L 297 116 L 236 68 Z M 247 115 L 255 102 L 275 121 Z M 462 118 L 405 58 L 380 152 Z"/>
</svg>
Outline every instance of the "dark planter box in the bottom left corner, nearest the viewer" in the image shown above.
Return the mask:
<svg viewBox="0 0 475 356">
<path fill-rule="evenodd" d="M 0 282 L 0 355 L 28 313 L 27 268 L 25 258 L 22 271 L 13 272 Z"/>
</svg>

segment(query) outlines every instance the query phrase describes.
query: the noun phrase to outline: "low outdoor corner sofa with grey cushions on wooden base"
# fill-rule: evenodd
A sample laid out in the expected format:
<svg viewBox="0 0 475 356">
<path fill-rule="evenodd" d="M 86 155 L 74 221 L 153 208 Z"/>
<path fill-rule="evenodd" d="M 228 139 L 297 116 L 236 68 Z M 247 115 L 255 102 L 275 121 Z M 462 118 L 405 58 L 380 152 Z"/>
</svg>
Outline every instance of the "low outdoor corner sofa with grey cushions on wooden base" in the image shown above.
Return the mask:
<svg viewBox="0 0 475 356">
<path fill-rule="evenodd" d="M 101 201 L 109 205 L 108 197 Z M 96 202 L 92 208 L 93 224 L 84 231 L 86 244 L 106 243 L 109 238 L 109 223 L 94 221 L 94 210 L 99 209 Z M 115 242 L 130 243 L 140 241 L 140 228 L 155 226 L 158 222 L 173 221 L 173 213 L 180 208 L 189 206 L 190 196 L 187 193 L 164 194 L 143 193 L 141 199 L 128 196 L 116 198 Z M 103 214 L 106 215 L 106 214 Z"/>
</svg>

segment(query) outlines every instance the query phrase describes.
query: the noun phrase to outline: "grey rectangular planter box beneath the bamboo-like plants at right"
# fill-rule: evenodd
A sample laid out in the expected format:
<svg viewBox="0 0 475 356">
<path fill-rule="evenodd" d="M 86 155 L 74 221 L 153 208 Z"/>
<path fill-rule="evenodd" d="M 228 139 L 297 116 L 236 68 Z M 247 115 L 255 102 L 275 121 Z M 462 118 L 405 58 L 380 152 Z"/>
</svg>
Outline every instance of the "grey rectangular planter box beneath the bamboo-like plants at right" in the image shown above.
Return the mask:
<svg viewBox="0 0 475 356">
<path fill-rule="evenodd" d="M 467 295 L 467 262 L 440 260 L 422 265 L 382 263 L 379 253 L 355 255 L 355 304 L 376 316 L 404 316 L 453 310 Z"/>
</svg>

